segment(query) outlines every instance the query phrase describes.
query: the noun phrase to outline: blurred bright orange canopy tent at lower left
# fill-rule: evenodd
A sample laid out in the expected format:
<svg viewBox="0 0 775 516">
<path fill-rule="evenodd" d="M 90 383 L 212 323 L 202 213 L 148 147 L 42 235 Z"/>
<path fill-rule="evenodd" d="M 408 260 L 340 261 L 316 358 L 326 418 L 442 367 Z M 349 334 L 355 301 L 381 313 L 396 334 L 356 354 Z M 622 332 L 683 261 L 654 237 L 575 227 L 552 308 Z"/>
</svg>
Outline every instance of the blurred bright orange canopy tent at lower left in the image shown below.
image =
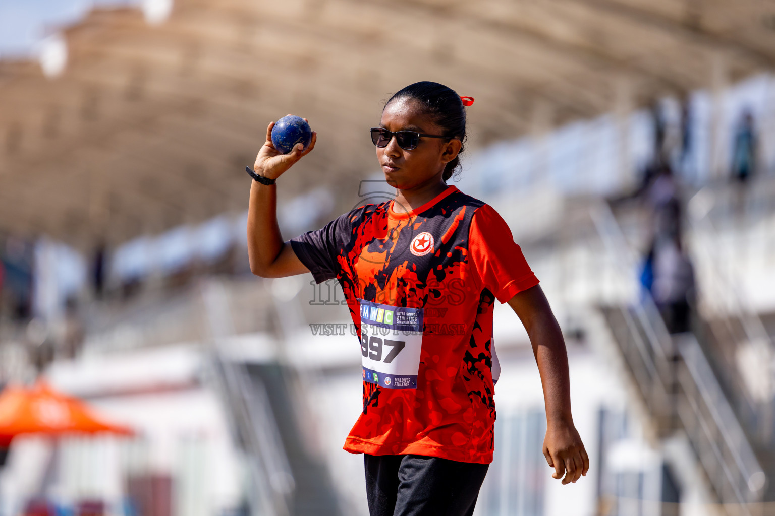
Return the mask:
<svg viewBox="0 0 775 516">
<path fill-rule="evenodd" d="M 78 432 L 133 434 L 126 426 L 103 421 L 84 402 L 54 391 L 43 381 L 32 388 L 9 386 L 0 393 L 0 446 L 8 446 L 21 434 Z"/>
</svg>

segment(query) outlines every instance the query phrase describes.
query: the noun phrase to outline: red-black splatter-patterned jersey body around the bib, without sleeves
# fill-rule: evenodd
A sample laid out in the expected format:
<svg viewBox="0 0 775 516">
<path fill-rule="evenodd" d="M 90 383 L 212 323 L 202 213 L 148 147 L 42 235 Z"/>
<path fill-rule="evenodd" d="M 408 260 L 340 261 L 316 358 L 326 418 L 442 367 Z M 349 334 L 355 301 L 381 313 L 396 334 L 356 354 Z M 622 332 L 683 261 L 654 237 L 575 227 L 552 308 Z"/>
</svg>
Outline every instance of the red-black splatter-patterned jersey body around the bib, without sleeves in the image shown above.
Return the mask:
<svg viewBox="0 0 775 516">
<path fill-rule="evenodd" d="M 344 448 L 490 463 L 496 417 L 491 371 L 495 296 L 470 263 L 469 239 L 472 217 L 485 205 L 454 186 L 429 204 L 416 214 L 396 214 L 390 202 L 353 210 L 342 219 L 346 226 L 339 225 L 343 235 L 336 237 L 336 248 L 329 249 L 336 255 L 336 277 L 359 346 L 358 299 L 425 314 L 417 388 L 364 381 L 363 412 Z M 413 255 L 412 239 L 424 231 L 433 235 L 435 249 Z"/>
</svg>

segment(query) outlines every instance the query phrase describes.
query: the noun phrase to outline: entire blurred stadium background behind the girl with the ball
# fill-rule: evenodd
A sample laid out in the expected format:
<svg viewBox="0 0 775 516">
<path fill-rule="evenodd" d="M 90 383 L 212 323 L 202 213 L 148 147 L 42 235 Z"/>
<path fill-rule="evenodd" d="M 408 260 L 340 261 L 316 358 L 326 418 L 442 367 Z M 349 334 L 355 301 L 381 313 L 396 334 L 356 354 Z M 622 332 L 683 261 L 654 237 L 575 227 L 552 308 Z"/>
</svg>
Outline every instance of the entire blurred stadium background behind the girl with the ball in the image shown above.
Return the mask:
<svg viewBox="0 0 775 516">
<path fill-rule="evenodd" d="M 460 190 L 567 340 L 591 469 L 552 480 L 495 313 L 477 515 L 775 514 L 775 2 L 2 0 L 0 515 L 367 514 L 336 282 L 250 274 L 267 123 L 319 132 L 285 238 L 390 199 L 367 128 L 476 98 Z"/>
</svg>

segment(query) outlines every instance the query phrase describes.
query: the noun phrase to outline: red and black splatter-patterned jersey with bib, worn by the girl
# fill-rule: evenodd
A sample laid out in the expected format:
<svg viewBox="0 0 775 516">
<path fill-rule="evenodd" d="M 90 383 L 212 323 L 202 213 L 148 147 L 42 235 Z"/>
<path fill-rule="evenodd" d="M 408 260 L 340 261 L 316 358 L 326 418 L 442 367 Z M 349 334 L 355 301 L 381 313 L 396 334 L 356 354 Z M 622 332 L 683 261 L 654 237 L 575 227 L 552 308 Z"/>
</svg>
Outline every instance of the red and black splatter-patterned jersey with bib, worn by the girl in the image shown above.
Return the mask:
<svg viewBox="0 0 775 516">
<path fill-rule="evenodd" d="M 538 284 L 505 220 L 448 186 L 415 210 L 369 204 L 291 240 L 342 285 L 363 355 L 363 413 L 344 449 L 490 463 L 492 313 Z"/>
</svg>

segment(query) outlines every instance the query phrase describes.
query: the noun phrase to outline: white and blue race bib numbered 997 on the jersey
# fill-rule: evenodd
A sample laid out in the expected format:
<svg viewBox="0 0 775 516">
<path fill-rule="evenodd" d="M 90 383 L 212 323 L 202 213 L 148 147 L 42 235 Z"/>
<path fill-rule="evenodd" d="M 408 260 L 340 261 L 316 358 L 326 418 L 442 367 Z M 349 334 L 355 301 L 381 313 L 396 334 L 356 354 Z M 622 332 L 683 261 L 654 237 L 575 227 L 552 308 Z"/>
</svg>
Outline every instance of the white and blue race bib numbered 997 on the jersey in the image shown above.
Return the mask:
<svg viewBox="0 0 775 516">
<path fill-rule="evenodd" d="M 422 309 L 358 301 L 363 380 L 389 389 L 417 388 Z"/>
</svg>

